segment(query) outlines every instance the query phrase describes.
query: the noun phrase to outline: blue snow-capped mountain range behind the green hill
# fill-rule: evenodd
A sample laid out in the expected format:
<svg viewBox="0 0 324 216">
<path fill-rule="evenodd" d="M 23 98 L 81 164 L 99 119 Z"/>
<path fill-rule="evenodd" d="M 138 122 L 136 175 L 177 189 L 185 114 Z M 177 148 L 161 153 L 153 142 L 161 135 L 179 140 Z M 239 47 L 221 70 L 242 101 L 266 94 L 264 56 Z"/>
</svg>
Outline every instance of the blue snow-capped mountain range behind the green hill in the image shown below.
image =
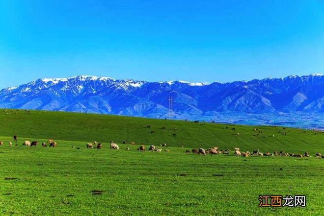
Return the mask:
<svg viewBox="0 0 324 216">
<path fill-rule="evenodd" d="M 75 76 L 37 79 L 2 89 L 1 108 L 58 110 L 150 118 L 210 118 L 214 112 L 324 113 L 324 75 L 287 76 L 211 84 L 146 82 Z"/>
</svg>

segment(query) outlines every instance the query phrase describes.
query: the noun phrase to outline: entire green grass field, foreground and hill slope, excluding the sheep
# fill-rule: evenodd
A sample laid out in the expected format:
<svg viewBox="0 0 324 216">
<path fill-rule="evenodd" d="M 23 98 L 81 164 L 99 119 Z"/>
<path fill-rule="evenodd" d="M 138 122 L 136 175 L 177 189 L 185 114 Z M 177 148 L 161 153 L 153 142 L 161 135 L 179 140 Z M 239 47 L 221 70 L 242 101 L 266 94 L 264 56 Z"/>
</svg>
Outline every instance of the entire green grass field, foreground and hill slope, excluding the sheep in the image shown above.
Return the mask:
<svg viewBox="0 0 324 216">
<path fill-rule="evenodd" d="M 7 110 L 0 113 L 0 122 L 4 143 L 0 146 L 0 215 L 324 212 L 323 159 L 185 153 L 192 147 L 218 145 L 271 152 L 307 150 L 314 156 L 316 151 L 323 153 L 323 133 L 287 128 L 283 135 L 278 133 L 282 127 L 259 126 L 262 135 L 268 135 L 262 138 L 255 136 L 254 127 L 243 125 L 228 125 L 236 128 L 233 132 L 222 124 L 42 111 Z M 163 126 L 165 130 L 159 129 Z M 149 133 L 152 130 L 154 134 Z M 8 146 L 14 134 L 19 146 Z M 24 140 L 41 143 L 49 138 L 57 141 L 56 148 L 21 145 Z M 103 142 L 103 149 L 86 149 L 86 142 L 94 140 Z M 110 140 L 121 149 L 109 149 Z M 124 140 L 137 145 L 120 144 Z M 162 143 L 169 145 L 170 152 L 136 151 L 139 144 Z M 258 207 L 259 195 L 286 194 L 306 195 L 306 207 Z"/>
</svg>

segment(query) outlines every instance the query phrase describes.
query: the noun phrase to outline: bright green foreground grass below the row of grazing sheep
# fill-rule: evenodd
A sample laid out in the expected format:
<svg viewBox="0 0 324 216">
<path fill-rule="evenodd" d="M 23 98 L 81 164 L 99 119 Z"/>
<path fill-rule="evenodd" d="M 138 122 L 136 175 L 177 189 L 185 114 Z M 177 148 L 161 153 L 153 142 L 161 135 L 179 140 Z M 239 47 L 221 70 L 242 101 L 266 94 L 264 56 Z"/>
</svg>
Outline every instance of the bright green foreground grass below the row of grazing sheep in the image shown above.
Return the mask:
<svg viewBox="0 0 324 216">
<path fill-rule="evenodd" d="M 0 215 L 320 215 L 324 159 L 8 146 L 0 137 Z M 22 138 L 23 139 L 23 138 Z M 39 140 L 43 142 L 45 140 Z M 75 146 L 75 147 L 71 147 Z M 126 147 L 130 147 L 126 151 Z M 80 149 L 77 149 L 80 147 Z M 259 195 L 306 195 L 306 207 L 259 207 Z"/>
</svg>

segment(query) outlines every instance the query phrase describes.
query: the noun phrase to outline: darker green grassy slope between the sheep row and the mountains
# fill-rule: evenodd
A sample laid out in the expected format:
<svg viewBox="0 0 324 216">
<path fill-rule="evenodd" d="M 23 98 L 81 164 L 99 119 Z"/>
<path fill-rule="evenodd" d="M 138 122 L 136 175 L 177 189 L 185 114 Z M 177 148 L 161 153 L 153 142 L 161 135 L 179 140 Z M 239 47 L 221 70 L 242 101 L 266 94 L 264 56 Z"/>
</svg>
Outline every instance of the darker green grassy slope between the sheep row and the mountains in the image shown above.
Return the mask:
<svg viewBox="0 0 324 216">
<path fill-rule="evenodd" d="M 134 141 L 136 144 L 146 145 L 166 143 L 169 146 L 219 146 L 220 149 L 240 147 L 242 150 L 258 148 L 261 151 L 284 149 L 295 153 L 309 151 L 311 154 L 322 151 L 324 146 L 323 132 L 286 128 L 285 135 L 282 127 L 274 126 L 204 124 L 192 121 L 9 109 L 0 110 L 0 122 L 0 136 L 17 135 L 18 138 L 31 140 L 51 138 L 84 143 Z M 150 125 L 150 128 L 146 128 L 147 125 Z M 165 129 L 162 129 L 163 127 Z M 233 127 L 236 128 L 235 131 L 232 131 Z M 257 136 L 254 128 L 263 133 Z"/>
</svg>

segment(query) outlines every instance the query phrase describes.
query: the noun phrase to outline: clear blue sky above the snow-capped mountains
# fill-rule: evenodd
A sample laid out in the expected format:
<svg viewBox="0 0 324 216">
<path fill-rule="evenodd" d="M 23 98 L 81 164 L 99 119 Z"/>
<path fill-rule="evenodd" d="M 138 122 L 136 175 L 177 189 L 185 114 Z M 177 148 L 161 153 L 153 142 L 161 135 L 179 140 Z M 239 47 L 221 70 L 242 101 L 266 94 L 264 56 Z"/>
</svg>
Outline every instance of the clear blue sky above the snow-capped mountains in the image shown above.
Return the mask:
<svg viewBox="0 0 324 216">
<path fill-rule="evenodd" d="M 0 89 L 79 74 L 228 82 L 315 72 L 323 0 L 0 1 Z"/>
</svg>

